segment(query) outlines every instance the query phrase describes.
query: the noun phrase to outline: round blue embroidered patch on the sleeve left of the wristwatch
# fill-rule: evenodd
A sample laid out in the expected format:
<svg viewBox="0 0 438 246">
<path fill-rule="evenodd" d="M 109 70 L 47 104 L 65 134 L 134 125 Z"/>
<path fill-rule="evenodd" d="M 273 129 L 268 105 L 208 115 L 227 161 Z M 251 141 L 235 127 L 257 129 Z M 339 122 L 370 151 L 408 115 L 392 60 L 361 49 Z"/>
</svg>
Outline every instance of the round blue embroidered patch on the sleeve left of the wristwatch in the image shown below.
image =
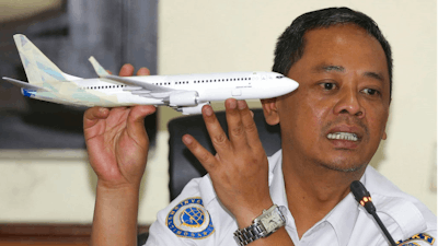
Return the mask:
<svg viewBox="0 0 438 246">
<path fill-rule="evenodd" d="M 181 237 L 203 239 L 215 232 L 211 216 L 199 197 L 188 198 L 176 204 L 169 212 L 165 224 Z"/>
</svg>

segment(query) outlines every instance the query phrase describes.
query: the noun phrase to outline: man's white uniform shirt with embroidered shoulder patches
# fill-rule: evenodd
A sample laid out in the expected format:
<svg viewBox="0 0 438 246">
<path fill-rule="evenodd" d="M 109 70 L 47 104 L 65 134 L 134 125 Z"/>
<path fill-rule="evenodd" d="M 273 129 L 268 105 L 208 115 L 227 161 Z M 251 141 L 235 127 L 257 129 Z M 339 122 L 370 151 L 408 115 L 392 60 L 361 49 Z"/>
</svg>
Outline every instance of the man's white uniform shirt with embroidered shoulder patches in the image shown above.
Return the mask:
<svg viewBox="0 0 438 246">
<path fill-rule="evenodd" d="M 275 204 L 287 208 L 281 151 L 268 160 L 270 197 Z M 406 246 L 438 245 L 435 243 L 438 237 L 438 220 L 422 202 L 402 192 L 371 166 L 367 167 L 360 180 L 371 194 L 377 213 L 395 242 L 405 241 L 403 245 Z M 289 210 L 286 216 L 286 230 L 296 246 L 389 245 L 372 216 L 358 204 L 351 194 L 301 238 L 298 237 Z M 234 246 L 233 232 L 237 229 L 237 221 L 221 206 L 210 177 L 206 175 L 191 180 L 181 195 L 158 213 L 146 245 Z"/>
</svg>

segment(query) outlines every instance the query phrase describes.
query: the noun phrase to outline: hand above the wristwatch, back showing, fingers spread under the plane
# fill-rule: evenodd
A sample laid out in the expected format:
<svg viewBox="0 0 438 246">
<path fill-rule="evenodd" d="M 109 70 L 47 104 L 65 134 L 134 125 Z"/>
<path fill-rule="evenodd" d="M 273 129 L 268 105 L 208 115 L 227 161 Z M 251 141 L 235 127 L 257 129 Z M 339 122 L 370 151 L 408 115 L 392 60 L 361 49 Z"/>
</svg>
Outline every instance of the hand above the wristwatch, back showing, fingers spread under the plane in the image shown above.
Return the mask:
<svg viewBox="0 0 438 246">
<path fill-rule="evenodd" d="M 203 108 L 216 155 L 192 136 L 184 136 L 183 142 L 210 174 L 217 196 L 237 218 L 239 227 L 245 227 L 273 204 L 268 187 L 268 162 L 246 103 L 227 99 L 226 112 L 229 139 L 212 108 L 208 105 Z"/>
</svg>

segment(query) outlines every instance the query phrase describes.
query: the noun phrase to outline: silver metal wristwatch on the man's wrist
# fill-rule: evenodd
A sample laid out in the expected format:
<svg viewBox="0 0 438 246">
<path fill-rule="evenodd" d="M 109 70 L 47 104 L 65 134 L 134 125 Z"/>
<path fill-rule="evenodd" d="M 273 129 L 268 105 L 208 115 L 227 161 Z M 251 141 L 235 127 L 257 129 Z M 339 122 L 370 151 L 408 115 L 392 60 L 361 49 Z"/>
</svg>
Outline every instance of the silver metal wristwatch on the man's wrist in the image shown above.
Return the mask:
<svg viewBox="0 0 438 246">
<path fill-rule="evenodd" d="M 263 210 L 262 215 L 257 216 L 252 225 L 234 232 L 234 239 L 238 245 L 244 246 L 258 238 L 267 237 L 273 232 L 285 226 L 285 210 L 286 208 L 284 206 L 278 207 L 276 204 L 268 210 Z"/>
</svg>

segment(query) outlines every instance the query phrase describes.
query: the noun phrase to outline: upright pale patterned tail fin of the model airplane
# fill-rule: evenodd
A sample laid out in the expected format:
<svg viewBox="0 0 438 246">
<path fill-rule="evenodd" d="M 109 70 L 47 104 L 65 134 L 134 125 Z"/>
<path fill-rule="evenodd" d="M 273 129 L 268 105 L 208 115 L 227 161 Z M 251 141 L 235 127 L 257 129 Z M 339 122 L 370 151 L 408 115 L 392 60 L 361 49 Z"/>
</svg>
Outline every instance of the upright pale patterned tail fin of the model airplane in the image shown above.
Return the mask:
<svg viewBox="0 0 438 246">
<path fill-rule="evenodd" d="M 64 73 L 23 34 L 13 36 L 28 83 L 81 80 Z"/>
</svg>

